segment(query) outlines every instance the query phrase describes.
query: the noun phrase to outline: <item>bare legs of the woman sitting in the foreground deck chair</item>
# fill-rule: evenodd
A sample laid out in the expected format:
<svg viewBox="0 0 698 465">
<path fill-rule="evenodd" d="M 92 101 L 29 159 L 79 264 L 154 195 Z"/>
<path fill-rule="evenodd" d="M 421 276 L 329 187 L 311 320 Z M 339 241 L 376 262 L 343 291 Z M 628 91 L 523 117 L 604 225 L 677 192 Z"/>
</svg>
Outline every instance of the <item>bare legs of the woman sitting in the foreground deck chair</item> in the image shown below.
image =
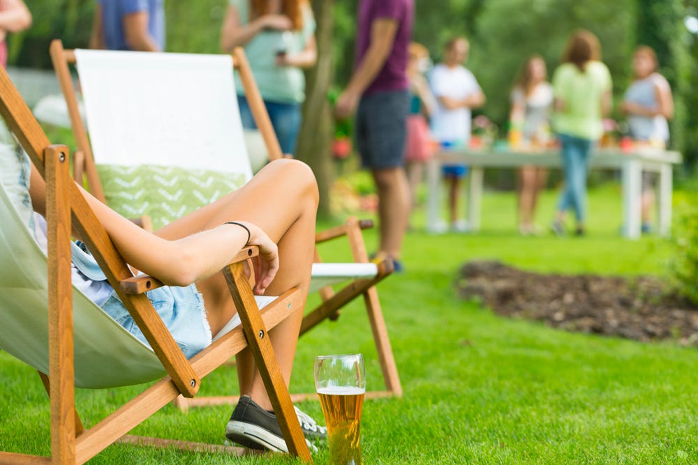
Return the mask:
<svg viewBox="0 0 698 465">
<path fill-rule="evenodd" d="M 267 294 L 279 295 L 292 287 L 307 294 L 317 208 L 318 189 L 309 167 L 296 160 L 278 160 L 267 165 L 239 190 L 168 224 L 156 234 L 175 239 L 226 221 L 253 222 L 279 245 L 281 265 Z M 204 296 L 211 331 L 215 335 L 237 312 L 228 285 L 223 273 L 217 273 L 198 282 L 197 287 Z M 287 386 L 302 316 L 302 309 L 299 309 L 269 332 Z M 262 408 L 271 409 L 262 379 L 253 367 L 251 352 L 243 351 L 238 357 L 240 392 L 250 395 Z"/>
</svg>

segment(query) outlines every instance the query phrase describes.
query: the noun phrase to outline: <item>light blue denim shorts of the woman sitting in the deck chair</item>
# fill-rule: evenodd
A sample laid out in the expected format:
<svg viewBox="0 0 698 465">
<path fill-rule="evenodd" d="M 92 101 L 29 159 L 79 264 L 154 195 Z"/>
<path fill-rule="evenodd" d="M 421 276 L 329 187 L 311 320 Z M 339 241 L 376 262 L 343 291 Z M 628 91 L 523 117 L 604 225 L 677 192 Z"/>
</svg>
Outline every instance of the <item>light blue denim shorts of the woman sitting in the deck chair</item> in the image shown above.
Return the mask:
<svg viewBox="0 0 698 465">
<path fill-rule="evenodd" d="M 163 319 L 186 358 L 195 356 L 211 344 L 211 328 L 206 317 L 204 299 L 197 291 L 195 284 L 187 287 L 160 287 L 147 291 L 145 295 Z M 116 291 L 112 292 L 101 307 L 129 333 L 150 346 L 138 325 L 133 321 L 133 317 L 124 307 L 124 303 L 119 300 Z"/>
</svg>

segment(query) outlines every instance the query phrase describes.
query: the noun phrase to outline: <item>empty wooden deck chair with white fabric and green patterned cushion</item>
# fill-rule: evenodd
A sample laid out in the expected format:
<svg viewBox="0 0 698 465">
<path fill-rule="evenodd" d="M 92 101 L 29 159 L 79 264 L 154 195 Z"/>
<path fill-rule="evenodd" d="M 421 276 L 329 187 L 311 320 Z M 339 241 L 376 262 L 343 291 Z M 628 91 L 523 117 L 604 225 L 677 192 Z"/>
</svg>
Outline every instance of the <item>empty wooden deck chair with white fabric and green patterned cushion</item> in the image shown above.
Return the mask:
<svg viewBox="0 0 698 465">
<path fill-rule="evenodd" d="M 79 149 L 75 167 L 80 170 L 84 160 L 91 192 L 117 211 L 121 208 L 124 215 L 149 213 L 154 225 L 159 227 L 189 209 L 214 200 L 219 192 L 228 192 L 236 184 L 248 181 L 251 166 L 245 144 L 247 137 L 237 109 L 234 70 L 242 80 L 269 158 L 282 156 L 242 49 L 235 50 L 233 66 L 228 55 L 73 51 L 64 50 L 58 40 L 51 45 L 51 56 Z M 76 63 L 80 77 L 89 141 L 77 110 L 70 63 Z M 128 144 L 115 144 L 123 140 L 128 140 Z M 159 151 L 152 149 L 155 140 L 161 148 Z M 163 151 L 163 146 L 171 146 L 172 150 Z M 155 153 L 162 154 L 162 158 L 157 160 Z M 144 171 L 140 168 L 144 162 L 156 168 Z M 138 169 L 133 168 L 137 166 Z M 206 169 L 202 171 L 202 167 Z M 82 178 L 82 174 L 78 172 L 77 177 Z M 220 183 L 223 189 L 216 188 Z M 135 184 L 140 187 L 135 188 Z M 146 208 L 138 209 L 137 204 L 144 205 L 142 198 L 138 203 L 124 198 L 124 185 L 145 197 L 153 192 L 159 197 L 151 197 Z M 350 218 L 343 225 L 316 236 L 318 243 L 346 236 L 354 262 L 313 266 L 311 292 L 319 291 L 322 303 L 305 315 L 301 334 L 324 319 L 336 319 L 344 305 L 362 296 L 386 386 L 385 391 L 366 395 L 401 396 L 402 387 L 375 287 L 392 272 L 392 263 L 369 261 L 362 236 L 362 228 L 368 225 Z M 316 261 L 320 261 L 319 254 Z M 337 283 L 344 284 L 335 292 L 329 285 Z M 200 398 L 189 404 L 236 400 Z"/>
</svg>

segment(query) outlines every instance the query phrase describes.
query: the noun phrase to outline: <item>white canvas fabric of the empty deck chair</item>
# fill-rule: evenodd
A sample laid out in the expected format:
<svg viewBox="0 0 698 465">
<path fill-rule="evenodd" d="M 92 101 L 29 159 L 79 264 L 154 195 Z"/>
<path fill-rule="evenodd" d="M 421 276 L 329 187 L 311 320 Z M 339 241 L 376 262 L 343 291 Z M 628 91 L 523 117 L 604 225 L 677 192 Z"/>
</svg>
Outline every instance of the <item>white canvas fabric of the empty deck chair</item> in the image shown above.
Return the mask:
<svg viewBox="0 0 698 465">
<path fill-rule="evenodd" d="M 159 191 L 172 189 L 166 194 L 172 199 L 170 220 L 227 193 L 210 189 L 219 181 L 212 172 L 227 174 L 237 187 L 251 179 L 246 142 L 255 137 L 242 128 L 230 56 L 76 49 L 75 59 L 97 165 L 187 170 L 174 178 L 191 178 L 192 192 L 173 178 L 147 181 L 159 182 Z M 203 176 L 191 171 L 201 169 Z M 121 190 L 138 196 L 131 182 L 124 180 Z M 377 273 L 372 263 L 313 264 L 311 291 Z"/>
</svg>

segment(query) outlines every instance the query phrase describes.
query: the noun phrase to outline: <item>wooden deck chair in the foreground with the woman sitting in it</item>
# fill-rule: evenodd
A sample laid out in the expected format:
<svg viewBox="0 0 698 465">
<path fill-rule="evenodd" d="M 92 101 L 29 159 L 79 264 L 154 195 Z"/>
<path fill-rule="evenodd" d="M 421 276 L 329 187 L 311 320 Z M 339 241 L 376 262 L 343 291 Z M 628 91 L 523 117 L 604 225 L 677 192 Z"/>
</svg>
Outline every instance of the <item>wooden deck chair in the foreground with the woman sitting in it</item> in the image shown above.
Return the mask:
<svg viewBox="0 0 698 465">
<path fill-rule="evenodd" d="M 4 70 L 0 70 L 0 114 L 47 182 L 48 222 L 47 257 L 18 213 L 21 202 L 11 201 L 6 188 L 0 188 L 0 349 L 38 370 L 51 405 L 51 457 L 3 451 L 0 463 L 82 464 L 119 439 L 242 453 L 242 449 L 223 445 L 125 435 L 178 395 L 193 397 L 204 376 L 246 346 L 255 355 L 288 450 L 311 462 L 269 337 L 265 337 L 269 328 L 299 308 L 300 291 L 288 290 L 260 313 L 242 264 L 258 251 L 247 247 L 223 270 L 242 328 L 218 337 L 207 349 L 187 360 L 144 294 L 161 283 L 148 276 L 133 277 L 70 178 L 68 148 L 50 144 Z M 6 157 L 3 162 L 8 161 L 7 153 L 0 153 Z M 24 194 L 27 197 L 26 186 Z M 73 288 L 72 227 L 84 238 L 153 349 Z M 106 388 L 158 379 L 96 425 L 89 429 L 82 426 L 75 409 L 76 386 Z"/>
</svg>

